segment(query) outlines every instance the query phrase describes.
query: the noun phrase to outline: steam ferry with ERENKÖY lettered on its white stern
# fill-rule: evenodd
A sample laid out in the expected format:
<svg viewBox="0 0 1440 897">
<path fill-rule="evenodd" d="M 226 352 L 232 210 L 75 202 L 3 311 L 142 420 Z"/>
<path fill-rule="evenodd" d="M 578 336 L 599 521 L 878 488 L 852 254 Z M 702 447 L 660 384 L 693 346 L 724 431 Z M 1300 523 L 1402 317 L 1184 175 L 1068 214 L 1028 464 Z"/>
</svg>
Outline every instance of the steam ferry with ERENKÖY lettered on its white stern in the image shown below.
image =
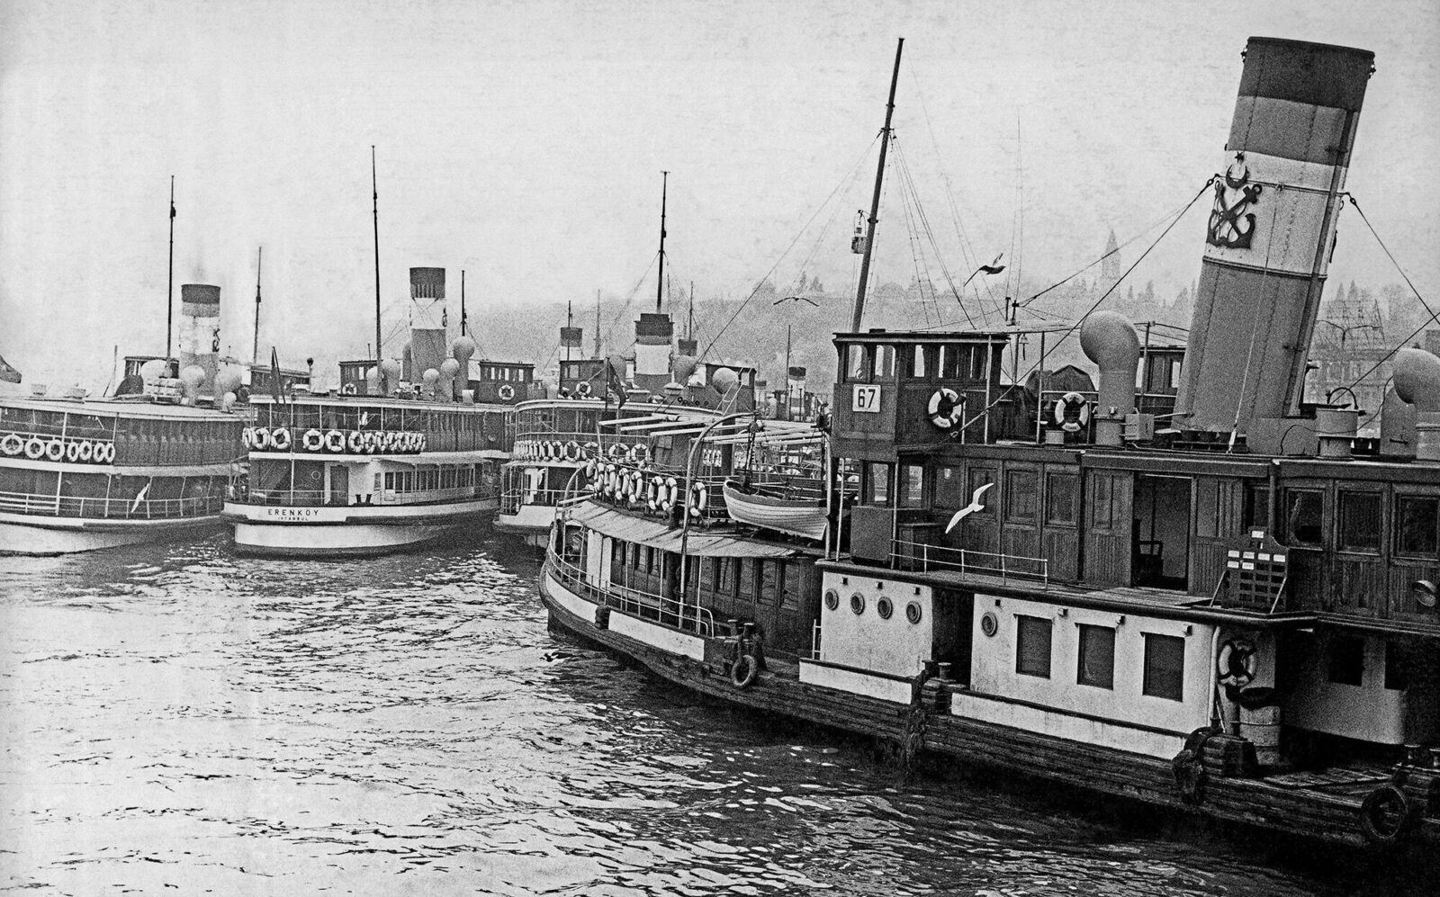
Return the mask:
<svg viewBox="0 0 1440 897">
<path fill-rule="evenodd" d="M 534 366 L 474 359 L 464 333 L 446 347 L 446 318 L 445 269 L 412 268 L 403 360 L 341 361 L 330 395 L 251 397 L 249 472 L 223 508 L 236 551 L 382 554 L 490 523 Z"/>
</svg>

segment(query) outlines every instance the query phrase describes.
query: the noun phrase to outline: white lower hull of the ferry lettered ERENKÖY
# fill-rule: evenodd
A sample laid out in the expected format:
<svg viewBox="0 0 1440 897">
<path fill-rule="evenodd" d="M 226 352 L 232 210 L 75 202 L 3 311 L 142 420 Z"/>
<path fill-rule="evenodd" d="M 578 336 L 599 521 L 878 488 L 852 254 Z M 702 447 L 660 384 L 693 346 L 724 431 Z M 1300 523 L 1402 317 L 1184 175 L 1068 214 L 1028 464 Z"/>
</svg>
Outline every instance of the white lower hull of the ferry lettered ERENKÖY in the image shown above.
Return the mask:
<svg viewBox="0 0 1440 897">
<path fill-rule="evenodd" d="M 278 507 L 226 504 L 235 550 L 284 557 L 387 554 L 488 521 L 497 500 L 441 505 Z"/>
</svg>

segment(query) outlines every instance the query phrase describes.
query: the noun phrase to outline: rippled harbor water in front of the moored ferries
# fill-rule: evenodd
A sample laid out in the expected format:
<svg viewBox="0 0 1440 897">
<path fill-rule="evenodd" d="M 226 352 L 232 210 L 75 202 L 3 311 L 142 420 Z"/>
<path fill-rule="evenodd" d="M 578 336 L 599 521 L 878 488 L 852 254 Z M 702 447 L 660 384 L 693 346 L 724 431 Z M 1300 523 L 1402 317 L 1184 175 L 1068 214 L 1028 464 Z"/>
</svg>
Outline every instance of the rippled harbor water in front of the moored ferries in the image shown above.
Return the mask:
<svg viewBox="0 0 1440 897">
<path fill-rule="evenodd" d="M 0 887 L 1341 894 L 1351 874 L 904 776 L 552 635 L 526 550 L 0 557 Z M 1302 854 L 1303 857 L 1303 854 Z M 1346 867 L 1349 868 L 1349 867 Z"/>
</svg>

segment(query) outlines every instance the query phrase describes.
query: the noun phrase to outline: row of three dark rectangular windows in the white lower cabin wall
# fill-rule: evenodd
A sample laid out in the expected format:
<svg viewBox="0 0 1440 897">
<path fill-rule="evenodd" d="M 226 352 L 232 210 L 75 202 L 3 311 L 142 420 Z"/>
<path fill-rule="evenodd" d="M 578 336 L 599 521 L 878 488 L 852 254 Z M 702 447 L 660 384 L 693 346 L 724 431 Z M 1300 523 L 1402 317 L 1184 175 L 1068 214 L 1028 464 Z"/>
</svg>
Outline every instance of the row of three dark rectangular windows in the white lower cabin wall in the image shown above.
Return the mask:
<svg viewBox="0 0 1440 897">
<path fill-rule="evenodd" d="M 1015 672 L 1051 678 L 1051 638 L 1054 621 L 1044 616 L 1015 615 Z M 1185 639 L 1175 635 L 1143 632 L 1145 658 L 1140 694 L 1171 701 L 1185 700 Z M 1096 688 L 1115 688 L 1115 629 L 1076 626 L 1076 682 Z"/>
</svg>

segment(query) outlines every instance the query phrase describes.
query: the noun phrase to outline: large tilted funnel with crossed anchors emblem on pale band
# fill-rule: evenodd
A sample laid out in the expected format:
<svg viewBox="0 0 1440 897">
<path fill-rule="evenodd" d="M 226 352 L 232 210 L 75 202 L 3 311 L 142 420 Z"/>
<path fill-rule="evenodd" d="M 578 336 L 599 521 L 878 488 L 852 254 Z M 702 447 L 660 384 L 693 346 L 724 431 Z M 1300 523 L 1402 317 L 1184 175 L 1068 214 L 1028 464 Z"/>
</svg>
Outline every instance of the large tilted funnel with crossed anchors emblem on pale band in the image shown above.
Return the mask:
<svg viewBox="0 0 1440 897">
<path fill-rule="evenodd" d="M 1299 413 L 1374 59 L 1274 37 L 1246 46 L 1176 399 L 1182 429 L 1246 433 Z"/>
</svg>

